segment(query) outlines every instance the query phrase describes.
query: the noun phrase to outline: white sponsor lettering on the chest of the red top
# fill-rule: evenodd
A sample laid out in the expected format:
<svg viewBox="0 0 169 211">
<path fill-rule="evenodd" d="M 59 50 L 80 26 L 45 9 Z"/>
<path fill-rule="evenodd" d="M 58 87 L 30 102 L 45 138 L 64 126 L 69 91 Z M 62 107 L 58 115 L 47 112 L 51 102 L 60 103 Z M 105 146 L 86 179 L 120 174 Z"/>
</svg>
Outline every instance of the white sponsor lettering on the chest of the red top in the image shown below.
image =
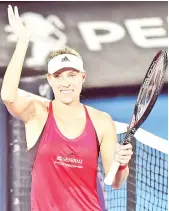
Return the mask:
<svg viewBox="0 0 169 211">
<path fill-rule="evenodd" d="M 71 153 L 71 155 L 73 155 Z M 83 160 L 77 159 L 74 157 L 63 157 L 63 156 L 57 156 L 56 160 L 54 161 L 54 164 L 66 166 L 70 168 L 83 168 Z"/>
</svg>

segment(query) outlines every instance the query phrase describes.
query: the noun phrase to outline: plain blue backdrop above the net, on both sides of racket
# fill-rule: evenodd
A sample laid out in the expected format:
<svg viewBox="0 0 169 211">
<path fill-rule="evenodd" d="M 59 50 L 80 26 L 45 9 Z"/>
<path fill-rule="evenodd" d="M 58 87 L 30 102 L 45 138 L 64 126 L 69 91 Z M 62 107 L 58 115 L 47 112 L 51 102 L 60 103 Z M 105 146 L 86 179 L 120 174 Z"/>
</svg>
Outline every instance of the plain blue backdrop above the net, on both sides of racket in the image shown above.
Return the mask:
<svg viewBox="0 0 169 211">
<path fill-rule="evenodd" d="M 131 121 L 136 96 L 96 98 L 83 100 L 84 104 L 108 112 L 115 121 Z M 141 128 L 157 136 L 168 139 L 168 96 L 160 95 L 152 112 Z"/>
</svg>

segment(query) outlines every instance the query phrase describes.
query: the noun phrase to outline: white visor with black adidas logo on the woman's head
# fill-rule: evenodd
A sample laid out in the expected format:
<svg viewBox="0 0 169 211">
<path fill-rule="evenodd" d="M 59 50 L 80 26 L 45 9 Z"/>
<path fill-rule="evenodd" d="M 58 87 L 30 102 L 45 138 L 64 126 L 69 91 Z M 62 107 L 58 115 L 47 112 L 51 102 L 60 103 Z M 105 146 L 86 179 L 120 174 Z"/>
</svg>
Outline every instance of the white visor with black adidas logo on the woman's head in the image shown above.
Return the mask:
<svg viewBox="0 0 169 211">
<path fill-rule="evenodd" d="M 73 68 L 85 72 L 82 59 L 72 54 L 60 54 L 55 56 L 48 63 L 49 74 L 53 74 L 63 68 Z"/>
</svg>

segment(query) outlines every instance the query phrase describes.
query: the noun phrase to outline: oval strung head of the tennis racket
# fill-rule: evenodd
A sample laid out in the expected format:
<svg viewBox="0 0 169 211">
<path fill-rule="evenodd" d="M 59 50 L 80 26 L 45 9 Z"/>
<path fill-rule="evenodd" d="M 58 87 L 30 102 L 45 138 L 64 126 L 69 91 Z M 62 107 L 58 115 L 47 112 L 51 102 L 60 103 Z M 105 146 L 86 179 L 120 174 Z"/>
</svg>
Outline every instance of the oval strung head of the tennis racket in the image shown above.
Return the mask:
<svg viewBox="0 0 169 211">
<path fill-rule="evenodd" d="M 168 58 L 166 51 L 159 51 L 147 71 L 143 84 L 140 88 L 135 106 L 135 125 L 138 121 L 143 122 L 150 113 L 158 95 L 167 71 Z M 145 114 L 147 113 L 147 114 Z M 143 119 L 143 120 L 141 120 Z"/>
</svg>

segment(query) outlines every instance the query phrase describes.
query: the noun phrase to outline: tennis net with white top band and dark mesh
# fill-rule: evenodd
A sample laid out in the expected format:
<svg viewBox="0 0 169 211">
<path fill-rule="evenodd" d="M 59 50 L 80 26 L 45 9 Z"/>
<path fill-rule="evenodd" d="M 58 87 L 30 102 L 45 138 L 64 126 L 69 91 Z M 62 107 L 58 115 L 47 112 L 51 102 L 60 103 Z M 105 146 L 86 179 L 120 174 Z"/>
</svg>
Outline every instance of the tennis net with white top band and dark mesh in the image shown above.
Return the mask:
<svg viewBox="0 0 169 211">
<path fill-rule="evenodd" d="M 116 123 L 119 143 L 126 124 Z M 132 140 L 130 174 L 122 188 L 103 184 L 104 170 L 99 157 L 98 176 L 102 184 L 106 211 L 168 210 L 168 142 L 139 129 Z"/>
</svg>

